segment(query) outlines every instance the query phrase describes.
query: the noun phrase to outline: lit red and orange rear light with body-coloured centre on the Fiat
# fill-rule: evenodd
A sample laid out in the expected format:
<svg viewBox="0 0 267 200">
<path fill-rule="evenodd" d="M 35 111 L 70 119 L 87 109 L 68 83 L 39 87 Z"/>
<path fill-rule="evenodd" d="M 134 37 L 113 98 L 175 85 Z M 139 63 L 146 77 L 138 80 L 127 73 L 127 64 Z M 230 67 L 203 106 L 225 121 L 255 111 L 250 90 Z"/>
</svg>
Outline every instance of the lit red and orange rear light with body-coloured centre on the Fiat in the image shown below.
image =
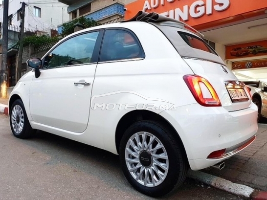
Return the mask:
<svg viewBox="0 0 267 200">
<path fill-rule="evenodd" d="M 197 75 L 185 75 L 183 80 L 200 105 L 222 106 L 215 89 L 206 79 Z"/>
</svg>

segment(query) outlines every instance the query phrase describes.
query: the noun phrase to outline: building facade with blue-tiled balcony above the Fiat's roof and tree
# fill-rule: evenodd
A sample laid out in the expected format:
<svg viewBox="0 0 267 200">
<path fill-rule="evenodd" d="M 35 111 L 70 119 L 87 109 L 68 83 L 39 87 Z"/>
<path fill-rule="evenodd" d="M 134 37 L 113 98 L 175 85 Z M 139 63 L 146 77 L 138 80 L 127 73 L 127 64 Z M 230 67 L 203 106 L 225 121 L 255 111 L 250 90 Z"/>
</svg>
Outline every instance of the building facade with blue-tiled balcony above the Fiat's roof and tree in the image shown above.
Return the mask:
<svg viewBox="0 0 267 200">
<path fill-rule="evenodd" d="M 68 5 L 69 21 L 79 18 L 91 18 L 99 23 L 106 23 L 124 17 L 125 4 L 134 0 L 58 0 Z M 59 34 L 62 25 L 58 26 Z"/>
</svg>

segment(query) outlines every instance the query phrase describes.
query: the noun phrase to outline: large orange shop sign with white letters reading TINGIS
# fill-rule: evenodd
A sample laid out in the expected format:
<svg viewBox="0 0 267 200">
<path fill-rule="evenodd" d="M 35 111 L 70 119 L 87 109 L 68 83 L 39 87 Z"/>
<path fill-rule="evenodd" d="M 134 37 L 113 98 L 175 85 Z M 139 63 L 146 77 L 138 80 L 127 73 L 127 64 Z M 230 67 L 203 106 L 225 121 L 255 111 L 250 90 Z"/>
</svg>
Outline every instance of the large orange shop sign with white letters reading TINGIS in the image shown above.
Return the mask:
<svg viewBox="0 0 267 200">
<path fill-rule="evenodd" d="M 125 7 L 126 20 L 143 10 L 184 21 L 200 30 L 264 15 L 267 0 L 136 0 Z"/>
</svg>

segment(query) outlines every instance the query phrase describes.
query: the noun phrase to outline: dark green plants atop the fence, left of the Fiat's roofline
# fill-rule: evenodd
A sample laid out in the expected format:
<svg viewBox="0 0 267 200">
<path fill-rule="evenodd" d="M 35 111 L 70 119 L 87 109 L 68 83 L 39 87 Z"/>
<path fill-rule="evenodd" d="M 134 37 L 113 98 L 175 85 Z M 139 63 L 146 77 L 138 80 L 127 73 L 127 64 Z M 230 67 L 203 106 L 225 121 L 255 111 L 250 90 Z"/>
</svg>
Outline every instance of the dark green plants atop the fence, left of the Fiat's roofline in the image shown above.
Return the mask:
<svg viewBox="0 0 267 200">
<path fill-rule="evenodd" d="M 28 46 L 32 44 L 34 47 L 38 47 L 47 43 L 57 43 L 58 41 L 59 38 L 57 37 L 50 38 L 47 35 L 42 35 L 42 36 L 32 35 L 24 38 L 23 46 Z"/>
</svg>

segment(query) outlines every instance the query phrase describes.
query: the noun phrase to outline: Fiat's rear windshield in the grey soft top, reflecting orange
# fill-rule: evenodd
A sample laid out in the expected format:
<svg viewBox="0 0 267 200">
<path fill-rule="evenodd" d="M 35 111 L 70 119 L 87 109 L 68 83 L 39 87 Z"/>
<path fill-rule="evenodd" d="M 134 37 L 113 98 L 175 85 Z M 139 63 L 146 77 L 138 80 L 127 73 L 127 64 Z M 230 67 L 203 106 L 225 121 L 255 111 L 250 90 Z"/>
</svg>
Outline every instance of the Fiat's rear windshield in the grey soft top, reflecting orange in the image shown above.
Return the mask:
<svg viewBox="0 0 267 200">
<path fill-rule="evenodd" d="M 181 36 L 184 42 L 186 42 L 186 44 L 188 44 L 192 48 L 197 48 L 202 51 L 207 51 L 209 53 L 213 53 L 217 55 L 215 51 L 208 44 L 206 44 L 205 41 L 201 40 L 200 38 L 194 35 L 191 35 L 189 33 L 180 32 L 180 31 L 178 31 L 178 34 Z"/>
</svg>

